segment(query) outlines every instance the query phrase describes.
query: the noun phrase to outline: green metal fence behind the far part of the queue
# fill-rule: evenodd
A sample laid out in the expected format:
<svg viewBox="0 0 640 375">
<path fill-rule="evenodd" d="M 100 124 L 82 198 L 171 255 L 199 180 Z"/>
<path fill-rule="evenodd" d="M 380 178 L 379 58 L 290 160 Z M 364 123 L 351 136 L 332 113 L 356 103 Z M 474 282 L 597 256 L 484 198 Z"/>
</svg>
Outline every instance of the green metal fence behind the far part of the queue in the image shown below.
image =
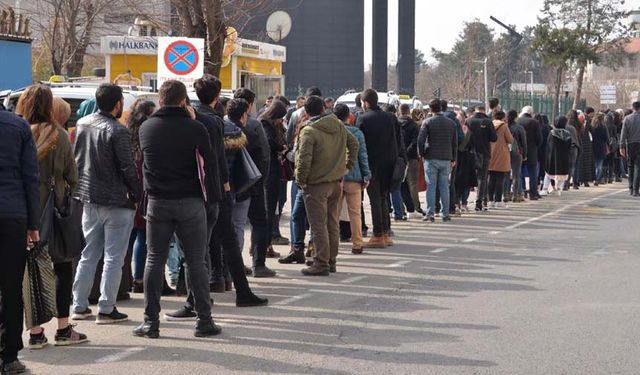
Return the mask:
<svg viewBox="0 0 640 375">
<path fill-rule="evenodd" d="M 500 99 L 500 105 L 505 111 L 515 109 L 520 111 L 524 106 L 531 105 L 536 113 L 545 114 L 549 118 L 553 118 L 559 114 L 566 114 L 573 107 L 573 97 L 561 96 L 559 108 L 553 110 L 553 95 L 534 94 L 525 92 L 501 91 L 496 97 Z M 578 108 L 584 109 L 587 105 L 586 100 L 580 100 Z"/>
</svg>

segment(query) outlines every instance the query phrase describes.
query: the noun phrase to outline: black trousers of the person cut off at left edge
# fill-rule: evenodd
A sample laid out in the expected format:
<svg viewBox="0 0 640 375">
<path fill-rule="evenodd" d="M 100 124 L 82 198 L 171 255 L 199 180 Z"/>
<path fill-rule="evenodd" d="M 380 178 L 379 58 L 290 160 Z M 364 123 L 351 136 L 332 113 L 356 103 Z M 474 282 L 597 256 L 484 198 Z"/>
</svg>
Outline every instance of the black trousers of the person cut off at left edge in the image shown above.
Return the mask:
<svg viewBox="0 0 640 375">
<path fill-rule="evenodd" d="M 0 219 L 0 358 L 13 362 L 22 344 L 22 278 L 27 260 L 27 222 Z"/>
</svg>

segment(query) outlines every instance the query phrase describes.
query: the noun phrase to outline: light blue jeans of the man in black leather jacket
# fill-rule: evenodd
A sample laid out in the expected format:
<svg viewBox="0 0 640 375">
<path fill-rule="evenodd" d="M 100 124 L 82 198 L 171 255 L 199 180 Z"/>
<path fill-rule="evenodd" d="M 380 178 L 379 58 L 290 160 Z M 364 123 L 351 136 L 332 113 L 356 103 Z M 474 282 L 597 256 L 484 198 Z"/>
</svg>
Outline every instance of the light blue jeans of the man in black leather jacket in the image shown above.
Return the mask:
<svg viewBox="0 0 640 375">
<path fill-rule="evenodd" d="M 96 267 L 104 255 L 98 312 L 111 314 L 116 305 L 122 265 L 133 229 L 134 210 L 85 203 L 82 231 L 87 245 L 78 262 L 73 282 L 73 311 L 89 307 L 89 294 L 93 286 Z"/>
</svg>

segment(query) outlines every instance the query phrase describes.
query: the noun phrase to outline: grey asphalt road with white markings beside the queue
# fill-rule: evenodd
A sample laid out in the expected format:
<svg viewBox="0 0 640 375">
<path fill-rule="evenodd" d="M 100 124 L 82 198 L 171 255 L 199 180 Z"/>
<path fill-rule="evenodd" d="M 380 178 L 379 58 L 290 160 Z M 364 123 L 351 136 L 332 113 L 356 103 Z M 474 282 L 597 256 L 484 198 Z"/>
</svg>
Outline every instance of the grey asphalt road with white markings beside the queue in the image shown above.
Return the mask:
<svg viewBox="0 0 640 375">
<path fill-rule="evenodd" d="M 623 184 L 394 222 L 395 246 L 354 256 L 343 244 L 330 277 L 270 260 L 279 276 L 250 280 L 268 307 L 213 295 L 217 338 L 164 321 L 160 339 L 132 337 L 134 294 L 118 306 L 133 321 L 79 322 L 90 343 L 21 358 L 34 374 L 637 374 L 639 222 Z"/>
</svg>

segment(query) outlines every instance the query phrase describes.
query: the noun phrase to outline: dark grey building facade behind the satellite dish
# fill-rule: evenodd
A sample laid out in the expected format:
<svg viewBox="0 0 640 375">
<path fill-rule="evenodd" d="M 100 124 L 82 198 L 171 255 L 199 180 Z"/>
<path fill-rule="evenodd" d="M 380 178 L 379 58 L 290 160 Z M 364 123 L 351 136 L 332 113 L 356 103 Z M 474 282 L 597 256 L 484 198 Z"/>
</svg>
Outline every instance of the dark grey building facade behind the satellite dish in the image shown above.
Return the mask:
<svg viewBox="0 0 640 375">
<path fill-rule="evenodd" d="M 280 9 L 293 21 L 280 44 L 287 47 L 286 95 L 319 87 L 337 97 L 364 83 L 364 0 L 282 0 Z M 265 39 L 266 17 L 256 19 L 243 37 Z"/>
</svg>

